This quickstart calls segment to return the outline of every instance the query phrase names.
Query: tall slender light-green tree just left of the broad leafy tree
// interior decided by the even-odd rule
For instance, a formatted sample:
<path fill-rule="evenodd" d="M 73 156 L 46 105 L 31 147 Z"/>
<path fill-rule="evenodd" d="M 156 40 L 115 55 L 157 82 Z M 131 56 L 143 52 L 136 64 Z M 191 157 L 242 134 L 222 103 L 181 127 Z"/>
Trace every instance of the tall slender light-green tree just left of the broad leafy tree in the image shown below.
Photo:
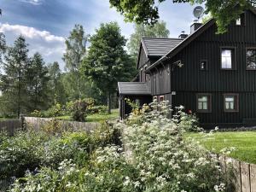
<path fill-rule="evenodd" d="M 86 42 L 88 35 L 85 35 L 83 26 L 75 25 L 70 36 L 66 40 L 66 53 L 63 60 L 66 62 L 67 71 L 71 75 L 69 84 L 72 84 L 72 90 L 81 97 L 81 74 L 79 68 L 82 59 L 86 53 Z"/>

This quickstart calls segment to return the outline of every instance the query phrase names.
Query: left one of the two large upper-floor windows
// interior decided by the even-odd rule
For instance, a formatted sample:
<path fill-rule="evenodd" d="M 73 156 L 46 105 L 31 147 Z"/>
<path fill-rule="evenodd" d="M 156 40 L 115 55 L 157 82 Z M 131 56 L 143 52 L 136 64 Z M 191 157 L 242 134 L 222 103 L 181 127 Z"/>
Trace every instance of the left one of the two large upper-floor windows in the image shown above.
<path fill-rule="evenodd" d="M 221 49 L 221 68 L 234 69 L 235 49 Z"/>

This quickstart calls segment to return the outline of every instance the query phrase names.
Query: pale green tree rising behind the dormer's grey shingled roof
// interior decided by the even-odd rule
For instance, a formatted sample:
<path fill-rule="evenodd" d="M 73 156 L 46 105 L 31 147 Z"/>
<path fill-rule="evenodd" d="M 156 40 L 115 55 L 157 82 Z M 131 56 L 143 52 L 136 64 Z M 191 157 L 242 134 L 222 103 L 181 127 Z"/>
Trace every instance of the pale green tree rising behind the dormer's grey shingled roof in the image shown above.
<path fill-rule="evenodd" d="M 154 26 L 147 26 L 144 24 L 136 24 L 135 32 L 131 34 L 131 38 L 128 43 L 128 50 L 131 56 L 137 60 L 138 49 L 141 39 L 146 38 L 168 38 L 169 30 L 166 29 L 166 22 L 157 22 Z"/>

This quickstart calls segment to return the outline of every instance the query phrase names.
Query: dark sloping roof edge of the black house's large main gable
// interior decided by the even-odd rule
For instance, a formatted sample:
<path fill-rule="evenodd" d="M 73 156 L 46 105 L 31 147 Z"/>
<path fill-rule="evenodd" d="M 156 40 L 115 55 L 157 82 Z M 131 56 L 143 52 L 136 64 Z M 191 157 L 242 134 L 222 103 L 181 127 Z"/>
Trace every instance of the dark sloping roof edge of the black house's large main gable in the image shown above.
<path fill-rule="evenodd" d="M 249 8 L 248 10 L 252 11 L 254 15 L 256 15 L 256 9 Z M 166 61 L 167 59 L 172 58 L 174 55 L 177 55 L 179 51 L 181 51 L 184 47 L 186 47 L 188 44 L 190 44 L 192 41 L 195 40 L 195 38 L 199 37 L 201 33 L 205 32 L 210 26 L 215 24 L 215 20 L 211 19 L 208 20 L 207 23 L 199 27 L 194 33 L 190 34 L 188 38 L 183 39 L 182 42 L 177 44 L 174 48 L 170 49 L 165 55 L 163 55 L 158 61 L 154 62 L 151 66 L 149 66 L 146 70 L 146 72 L 150 71 L 154 67 L 158 66 L 161 62 Z"/>

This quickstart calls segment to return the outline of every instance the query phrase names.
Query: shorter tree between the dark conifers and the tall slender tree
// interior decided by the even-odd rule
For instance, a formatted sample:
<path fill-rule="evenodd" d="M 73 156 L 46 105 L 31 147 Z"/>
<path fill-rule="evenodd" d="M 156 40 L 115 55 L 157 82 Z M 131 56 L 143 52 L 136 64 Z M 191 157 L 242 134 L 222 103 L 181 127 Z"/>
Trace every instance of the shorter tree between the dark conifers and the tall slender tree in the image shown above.
<path fill-rule="evenodd" d="M 60 65 L 57 61 L 49 64 L 49 90 L 51 95 L 51 105 L 54 101 L 57 103 L 65 104 L 67 102 L 67 93 L 62 83 L 62 73 Z"/>

